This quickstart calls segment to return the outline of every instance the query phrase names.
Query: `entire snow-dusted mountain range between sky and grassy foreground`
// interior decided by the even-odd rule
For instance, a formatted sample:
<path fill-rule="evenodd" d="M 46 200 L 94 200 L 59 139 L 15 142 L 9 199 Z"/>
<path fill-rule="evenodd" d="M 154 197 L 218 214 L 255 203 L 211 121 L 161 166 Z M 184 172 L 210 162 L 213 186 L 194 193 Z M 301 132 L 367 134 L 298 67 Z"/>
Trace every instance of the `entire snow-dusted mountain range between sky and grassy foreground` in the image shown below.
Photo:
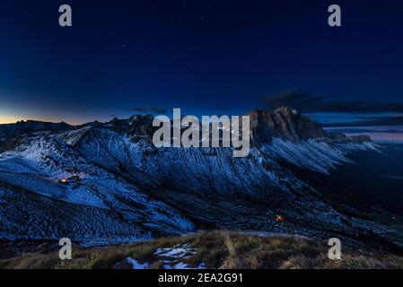
<path fill-rule="evenodd" d="M 152 123 L 0 125 L 0 240 L 93 246 L 219 228 L 392 244 L 395 230 L 345 213 L 291 168 L 329 174 L 381 152 L 369 137 L 327 133 L 294 109 L 253 110 L 250 155 L 234 159 L 227 148 L 157 149 Z"/>

